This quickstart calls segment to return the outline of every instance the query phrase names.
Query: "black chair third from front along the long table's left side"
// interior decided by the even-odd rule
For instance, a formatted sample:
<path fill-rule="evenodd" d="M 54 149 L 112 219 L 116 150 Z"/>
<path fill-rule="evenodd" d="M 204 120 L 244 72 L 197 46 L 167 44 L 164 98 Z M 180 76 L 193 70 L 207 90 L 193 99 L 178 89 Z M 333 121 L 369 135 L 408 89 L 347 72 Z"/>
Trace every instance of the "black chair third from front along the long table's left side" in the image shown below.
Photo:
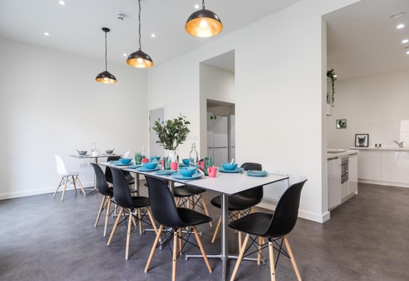
<path fill-rule="evenodd" d="M 106 209 L 105 215 L 105 227 L 104 227 L 104 236 L 106 236 L 106 230 L 108 227 L 109 215 L 111 210 L 111 202 L 115 205 L 115 201 L 112 200 L 113 198 L 113 190 L 108 186 L 108 183 L 105 180 L 104 172 L 102 171 L 101 167 L 98 164 L 90 163 L 95 171 L 95 178 L 96 178 L 96 186 L 99 191 L 104 197 L 102 198 L 101 207 L 99 208 L 99 212 L 97 215 L 97 221 L 95 222 L 95 227 L 98 226 L 99 220 L 101 218 L 102 211 Z M 110 170 L 109 167 L 106 167 L 107 170 Z"/>

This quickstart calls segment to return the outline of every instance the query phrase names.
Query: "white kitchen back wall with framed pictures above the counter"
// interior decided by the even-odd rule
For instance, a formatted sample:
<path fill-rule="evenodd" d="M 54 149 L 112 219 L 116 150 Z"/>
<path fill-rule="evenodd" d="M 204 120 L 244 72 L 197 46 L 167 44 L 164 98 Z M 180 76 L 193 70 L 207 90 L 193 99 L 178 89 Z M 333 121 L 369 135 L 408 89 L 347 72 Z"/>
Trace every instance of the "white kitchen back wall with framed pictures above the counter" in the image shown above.
<path fill-rule="evenodd" d="M 355 134 L 369 134 L 372 147 L 396 146 L 397 132 L 390 131 L 390 124 L 409 119 L 408 77 L 409 71 L 400 71 L 336 82 L 332 116 L 327 117 L 328 147 L 354 146 Z M 347 119 L 347 129 L 336 129 L 336 119 Z"/>

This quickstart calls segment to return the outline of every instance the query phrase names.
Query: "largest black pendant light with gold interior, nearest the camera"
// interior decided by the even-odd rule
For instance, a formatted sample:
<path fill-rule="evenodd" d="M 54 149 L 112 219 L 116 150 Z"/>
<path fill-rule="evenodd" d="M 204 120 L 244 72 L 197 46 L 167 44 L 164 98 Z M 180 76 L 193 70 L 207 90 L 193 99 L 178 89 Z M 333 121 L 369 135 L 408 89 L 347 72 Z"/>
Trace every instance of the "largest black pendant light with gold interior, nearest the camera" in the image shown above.
<path fill-rule="evenodd" d="M 185 30 L 196 37 L 211 37 L 219 34 L 222 29 L 220 18 L 205 9 L 205 0 L 203 0 L 203 9 L 191 14 L 185 24 Z"/>

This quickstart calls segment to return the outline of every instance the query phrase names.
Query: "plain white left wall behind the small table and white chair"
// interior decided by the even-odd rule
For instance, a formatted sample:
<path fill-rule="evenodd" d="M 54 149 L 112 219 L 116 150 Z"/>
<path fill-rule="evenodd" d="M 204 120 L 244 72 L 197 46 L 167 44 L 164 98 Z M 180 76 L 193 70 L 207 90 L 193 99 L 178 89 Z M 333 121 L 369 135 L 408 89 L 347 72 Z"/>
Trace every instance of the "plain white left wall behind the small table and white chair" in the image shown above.
<path fill-rule="evenodd" d="M 146 71 L 108 62 L 118 83 L 102 84 L 95 76 L 103 58 L 3 38 L 0 49 L 0 199 L 54 192 L 54 154 L 68 170 L 85 172 L 80 179 L 90 186 L 92 167 L 78 167 L 88 161 L 69 157 L 76 149 L 90 151 L 97 142 L 123 154 L 147 146 Z"/>

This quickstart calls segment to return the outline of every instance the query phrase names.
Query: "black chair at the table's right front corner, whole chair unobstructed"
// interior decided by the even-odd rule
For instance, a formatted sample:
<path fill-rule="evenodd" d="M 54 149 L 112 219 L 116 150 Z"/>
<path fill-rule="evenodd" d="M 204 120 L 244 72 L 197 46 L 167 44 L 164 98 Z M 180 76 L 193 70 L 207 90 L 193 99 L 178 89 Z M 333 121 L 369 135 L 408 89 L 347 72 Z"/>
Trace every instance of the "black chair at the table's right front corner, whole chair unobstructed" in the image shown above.
<path fill-rule="evenodd" d="M 306 181 L 307 180 L 304 180 L 289 186 L 280 197 L 276 210 L 273 214 L 253 213 L 229 223 L 229 226 L 236 231 L 246 233 L 246 237 L 244 238 L 243 245 L 241 246 L 239 257 L 237 258 L 236 266 L 234 267 L 230 281 L 234 280 L 234 277 L 239 269 L 240 262 L 252 244 L 258 245 L 258 260 L 260 260 L 261 250 L 268 247 L 271 280 L 276 280 L 275 268 L 278 258 L 282 253 L 291 260 L 297 278 L 299 281 L 301 281 L 300 272 L 291 251 L 290 244 L 288 243 L 287 234 L 289 234 L 296 225 L 298 210 L 300 207 L 301 190 Z M 251 238 L 252 235 L 256 237 Z M 247 242 L 250 238 L 252 240 L 252 244 L 246 248 Z M 257 238 L 259 238 L 258 242 Z M 264 243 L 263 238 L 267 238 L 268 242 Z M 282 248 L 283 241 L 287 251 Z M 276 263 L 274 263 L 273 248 L 278 250 Z"/>

